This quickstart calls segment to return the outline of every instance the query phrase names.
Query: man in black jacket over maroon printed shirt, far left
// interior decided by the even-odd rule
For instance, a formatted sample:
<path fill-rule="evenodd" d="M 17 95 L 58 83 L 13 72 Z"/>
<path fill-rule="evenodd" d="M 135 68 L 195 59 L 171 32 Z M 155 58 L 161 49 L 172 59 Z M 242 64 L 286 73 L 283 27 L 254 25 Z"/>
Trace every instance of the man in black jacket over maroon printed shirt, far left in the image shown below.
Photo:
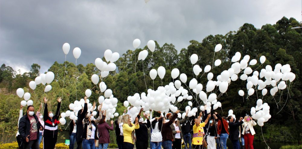
<path fill-rule="evenodd" d="M 34 106 L 27 107 L 26 114 L 19 121 L 19 133 L 24 149 L 39 149 L 39 130 L 43 130 L 38 117 L 34 114 Z"/>

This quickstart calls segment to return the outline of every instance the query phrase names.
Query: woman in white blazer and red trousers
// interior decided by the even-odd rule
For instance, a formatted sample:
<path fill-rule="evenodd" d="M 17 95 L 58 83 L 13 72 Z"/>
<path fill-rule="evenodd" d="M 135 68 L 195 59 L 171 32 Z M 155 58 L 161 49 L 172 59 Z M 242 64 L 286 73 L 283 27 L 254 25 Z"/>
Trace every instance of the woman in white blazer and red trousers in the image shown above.
<path fill-rule="evenodd" d="M 242 125 L 244 128 L 242 134 L 244 135 L 245 148 L 254 149 L 253 141 L 255 130 L 253 126 L 257 125 L 257 123 L 252 119 L 252 117 L 249 116 L 249 118 L 247 118 Z"/>

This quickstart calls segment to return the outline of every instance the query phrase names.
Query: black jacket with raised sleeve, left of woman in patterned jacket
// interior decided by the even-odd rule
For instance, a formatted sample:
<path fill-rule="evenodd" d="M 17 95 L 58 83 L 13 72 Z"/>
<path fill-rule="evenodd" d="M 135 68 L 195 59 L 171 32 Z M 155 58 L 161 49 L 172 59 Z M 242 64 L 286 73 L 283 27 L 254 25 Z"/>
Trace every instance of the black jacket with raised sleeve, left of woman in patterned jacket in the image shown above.
<path fill-rule="evenodd" d="M 76 141 L 77 142 L 82 141 L 82 135 L 84 132 L 82 121 L 85 118 L 85 114 L 87 113 L 87 110 L 88 110 L 87 103 L 85 103 L 83 112 L 82 112 L 82 110 L 79 110 L 79 112 L 78 112 L 78 121 L 76 122 Z M 82 114 L 81 114 L 81 112 L 82 112 Z"/>

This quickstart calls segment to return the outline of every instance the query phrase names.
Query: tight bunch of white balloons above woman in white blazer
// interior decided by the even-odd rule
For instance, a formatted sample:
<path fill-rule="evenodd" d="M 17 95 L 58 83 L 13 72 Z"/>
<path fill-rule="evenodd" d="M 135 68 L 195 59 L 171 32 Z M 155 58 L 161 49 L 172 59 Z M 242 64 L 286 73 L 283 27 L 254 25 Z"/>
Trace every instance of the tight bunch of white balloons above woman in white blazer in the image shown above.
<path fill-rule="evenodd" d="M 262 104 L 262 102 L 262 99 L 258 99 L 256 107 L 251 108 L 252 118 L 257 120 L 259 126 L 263 126 L 264 122 L 267 122 L 271 118 L 269 114 L 270 107 L 267 103 Z"/>

